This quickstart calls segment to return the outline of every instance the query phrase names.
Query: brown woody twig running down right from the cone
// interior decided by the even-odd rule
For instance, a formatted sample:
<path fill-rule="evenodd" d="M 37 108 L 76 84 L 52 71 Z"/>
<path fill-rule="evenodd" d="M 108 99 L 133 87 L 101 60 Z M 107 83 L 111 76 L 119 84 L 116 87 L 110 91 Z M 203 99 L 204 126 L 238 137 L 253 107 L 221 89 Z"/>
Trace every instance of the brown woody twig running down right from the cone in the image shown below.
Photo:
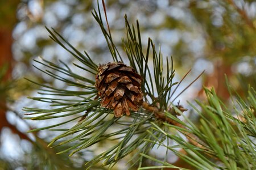
<path fill-rule="evenodd" d="M 147 111 L 150 111 L 155 114 L 156 118 L 159 118 L 160 120 L 164 122 L 168 122 L 169 124 L 178 126 L 179 128 L 187 129 L 184 125 L 180 124 L 179 122 L 176 122 L 175 120 L 166 117 L 166 115 L 163 112 L 160 112 L 158 108 L 150 106 L 147 102 L 143 101 L 142 107 L 146 109 Z M 203 143 L 200 141 L 199 138 L 195 134 L 188 133 L 187 131 L 183 131 L 183 134 L 185 134 L 185 137 L 188 139 L 189 142 L 192 143 L 192 145 L 195 145 L 199 148 L 206 149 L 205 146 L 201 145 Z"/>

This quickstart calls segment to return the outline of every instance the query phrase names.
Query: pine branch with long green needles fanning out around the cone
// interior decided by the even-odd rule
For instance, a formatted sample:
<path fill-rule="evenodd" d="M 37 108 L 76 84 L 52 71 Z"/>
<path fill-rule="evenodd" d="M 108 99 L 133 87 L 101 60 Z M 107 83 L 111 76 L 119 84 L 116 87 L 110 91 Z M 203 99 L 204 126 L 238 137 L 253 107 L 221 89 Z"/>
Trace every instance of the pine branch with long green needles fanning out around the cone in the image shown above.
<path fill-rule="evenodd" d="M 104 12 L 107 20 L 105 6 Z M 129 163 L 133 162 L 131 166 L 138 164 L 138 167 L 141 168 L 143 166 L 142 155 L 148 154 L 156 145 L 157 141 L 164 141 L 166 139 L 166 134 L 163 134 L 158 128 L 164 130 L 164 133 L 169 133 L 170 126 L 181 130 L 187 135 L 191 143 L 196 146 L 202 146 L 201 150 L 203 150 L 201 141 L 197 140 L 193 133 L 188 133 L 187 126 L 176 117 L 176 115 L 182 114 L 185 109 L 180 105 L 178 105 L 180 111 L 171 107 L 172 102 L 195 81 L 175 96 L 176 89 L 188 74 L 184 76 L 180 83 L 174 82 L 175 70 L 172 58 L 171 63 L 169 63 L 168 57 L 166 58 L 167 70 L 164 70 L 162 53 L 160 49 L 159 52 L 156 52 L 155 45 L 150 38 L 148 39 L 145 54 L 144 47 L 142 46 L 139 22 L 137 21 L 136 27 L 130 25 L 127 16 L 125 16 L 127 39 L 123 39 L 123 46 L 131 67 L 126 66 L 125 63 L 118 62 L 119 59 L 122 61 L 122 57 L 114 45 L 108 22 L 108 31 L 105 29 L 99 5 L 98 11 L 94 10 L 92 15 L 101 27 L 110 54 L 112 54 L 113 64 L 111 64 L 112 62 L 108 65 L 94 63 L 88 53 L 85 52 L 85 55 L 82 54 L 54 29 L 51 31 L 46 28 L 51 35 L 51 39 L 60 44 L 82 64 L 78 65 L 74 63 L 74 65 L 96 77 L 96 80 L 91 80 L 77 73 L 73 73 L 72 69 L 61 61 L 58 64 L 46 61 L 43 58 L 41 58 L 41 61 L 35 61 L 46 68 L 46 70 L 43 70 L 35 66 L 37 69 L 54 79 L 64 82 L 68 87 L 75 87 L 75 90 L 60 89 L 30 80 L 30 82 L 42 87 L 38 94 L 51 95 L 52 97 L 30 97 L 32 100 L 51 105 L 49 108 L 25 107 L 23 110 L 27 112 L 27 116 L 30 116 L 26 117 L 26 119 L 43 121 L 53 118 L 64 119 L 59 124 L 48 125 L 43 128 L 30 130 L 29 132 L 46 129 L 60 131 L 60 134 L 52 139 L 48 147 L 68 146 L 65 150 L 61 150 L 57 154 L 69 153 L 69 156 L 82 150 L 86 151 L 93 145 L 99 145 L 102 141 L 117 141 L 114 146 L 106 147 L 101 154 L 95 155 L 92 160 L 87 162 L 87 168 L 91 168 L 99 162 L 109 165 L 109 168 L 112 168 L 118 160 L 129 155 L 131 152 L 135 152 L 135 154 L 129 160 Z M 149 59 L 150 56 L 152 56 L 153 69 L 149 66 L 151 62 Z M 129 99 L 127 98 L 130 103 L 134 102 L 131 98 L 135 94 L 135 91 L 138 91 L 139 94 L 143 93 L 143 99 L 140 99 L 144 101 L 142 107 L 137 108 L 139 107 L 139 102 L 138 105 L 132 103 L 129 107 L 133 106 L 133 111 L 127 112 L 126 110 L 126 114 L 129 113 L 130 117 L 115 117 L 115 111 L 111 107 L 106 107 L 109 103 L 102 106 L 102 103 L 105 103 L 105 101 L 97 97 L 104 96 L 100 91 L 102 84 L 104 84 L 101 82 L 106 81 L 108 75 L 104 75 L 103 73 L 110 67 L 113 70 L 114 68 L 122 67 L 123 74 L 126 71 L 127 75 L 130 74 L 130 78 L 134 77 L 132 79 L 135 81 L 134 85 L 137 88 L 134 87 L 134 91 L 130 92 L 131 97 Z M 164 71 L 166 71 L 166 74 L 164 74 Z M 117 74 L 117 71 L 114 74 Z M 126 80 L 129 80 L 129 78 L 126 78 Z M 94 84 L 96 85 L 94 86 Z M 141 84 L 141 87 L 138 84 Z M 108 84 L 108 86 L 110 85 Z M 175 90 L 171 91 L 174 87 Z M 105 91 L 106 87 L 102 92 Z M 125 91 L 127 92 L 127 90 Z M 73 98 L 71 99 L 71 97 Z M 110 102 L 109 99 L 107 101 Z M 172 111 L 174 115 L 166 114 L 164 111 Z M 115 116 L 113 116 L 114 114 Z M 117 115 L 121 116 L 121 114 Z M 63 125 L 69 125 L 71 122 L 76 122 L 76 124 L 69 126 L 69 128 L 61 127 Z"/>

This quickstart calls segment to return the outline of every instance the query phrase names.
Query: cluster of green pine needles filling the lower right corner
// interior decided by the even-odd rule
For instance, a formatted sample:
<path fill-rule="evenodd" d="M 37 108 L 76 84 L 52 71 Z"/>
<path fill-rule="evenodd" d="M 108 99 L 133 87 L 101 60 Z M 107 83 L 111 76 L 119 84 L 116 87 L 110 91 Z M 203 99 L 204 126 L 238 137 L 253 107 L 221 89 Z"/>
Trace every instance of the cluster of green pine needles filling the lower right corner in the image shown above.
<path fill-rule="evenodd" d="M 158 140 L 157 144 L 173 151 L 175 155 L 197 169 L 255 169 L 255 135 L 252 132 L 255 131 L 256 125 L 254 116 L 256 92 L 251 88 L 248 92 L 247 100 L 244 100 L 233 91 L 229 84 L 228 86 L 229 91 L 233 92 L 238 99 L 233 100 L 233 111 L 221 102 L 213 89 L 205 89 L 205 93 L 208 96 L 208 105 L 197 101 L 197 104 L 202 109 L 201 111 L 191 104 L 200 115 L 201 127 L 200 129 L 197 128 L 195 124 L 186 119 L 187 124 L 189 124 L 189 126 L 186 126 L 187 132 L 195 134 L 200 141 L 206 144 L 204 145 L 206 148 L 191 145 L 181 136 L 166 133 L 158 125 L 154 125 L 161 133 L 167 135 L 168 139 L 174 140 L 179 148 L 183 148 L 187 154 L 177 151 L 174 146 L 165 145 L 160 140 Z M 204 112 L 209 117 L 206 117 Z M 172 116 L 168 112 L 166 114 Z M 180 120 L 176 121 L 180 124 L 184 123 Z M 170 124 L 166 125 L 175 128 Z M 212 162 L 208 156 L 216 159 L 218 164 Z M 159 162 L 159 160 L 150 156 L 147 156 L 147 158 Z M 161 163 L 163 165 L 166 164 L 166 162 Z M 169 165 L 168 168 L 172 168 L 172 165 Z"/>

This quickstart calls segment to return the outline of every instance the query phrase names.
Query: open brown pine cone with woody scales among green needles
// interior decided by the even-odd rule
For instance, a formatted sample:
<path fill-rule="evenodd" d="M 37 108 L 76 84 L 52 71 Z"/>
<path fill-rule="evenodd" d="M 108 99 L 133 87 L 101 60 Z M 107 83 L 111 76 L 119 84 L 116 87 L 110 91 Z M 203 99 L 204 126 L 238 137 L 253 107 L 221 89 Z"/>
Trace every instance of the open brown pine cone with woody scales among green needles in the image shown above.
<path fill-rule="evenodd" d="M 143 99 L 141 75 L 122 62 L 113 62 L 98 67 L 96 89 L 101 97 L 101 106 L 114 109 L 115 117 L 121 117 L 129 109 L 138 111 L 138 104 Z"/>

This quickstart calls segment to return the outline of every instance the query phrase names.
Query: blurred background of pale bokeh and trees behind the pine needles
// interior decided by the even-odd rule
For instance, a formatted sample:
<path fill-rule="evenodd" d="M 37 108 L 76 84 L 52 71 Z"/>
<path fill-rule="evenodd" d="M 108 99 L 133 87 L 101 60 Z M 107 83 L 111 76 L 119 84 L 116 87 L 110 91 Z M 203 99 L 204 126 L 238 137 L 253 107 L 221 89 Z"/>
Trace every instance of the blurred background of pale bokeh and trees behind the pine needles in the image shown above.
<path fill-rule="evenodd" d="M 192 69 L 183 86 L 205 70 L 180 97 L 181 104 L 204 100 L 203 85 L 214 87 L 228 103 L 224 74 L 241 95 L 245 95 L 248 84 L 256 87 L 255 1 L 109 0 L 106 6 L 114 42 L 124 56 L 121 38 L 126 37 L 123 16 L 127 14 L 130 23 L 139 20 L 143 45 L 151 37 L 163 56 L 174 58 L 176 80 Z M 22 108 L 42 106 L 27 99 L 37 96 L 39 87 L 24 77 L 59 88 L 67 86 L 36 70 L 33 59 L 42 56 L 56 63 L 61 60 L 76 70 L 74 58 L 49 39 L 45 26 L 55 28 L 77 49 L 86 50 L 96 63 L 112 60 L 91 14 L 93 8 L 97 8 L 96 0 L 0 1 L 0 169 L 82 169 L 85 161 L 92 159 L 86 152 L 71 158 L 55 155 L 56 150 L 47 148 L 55 132 L 26 133 L 50 122 L 23 120 Z M 168 162 L 180 165 L 173 155 Z M 122 166 L 125 159 L 116 168 Z"/>

